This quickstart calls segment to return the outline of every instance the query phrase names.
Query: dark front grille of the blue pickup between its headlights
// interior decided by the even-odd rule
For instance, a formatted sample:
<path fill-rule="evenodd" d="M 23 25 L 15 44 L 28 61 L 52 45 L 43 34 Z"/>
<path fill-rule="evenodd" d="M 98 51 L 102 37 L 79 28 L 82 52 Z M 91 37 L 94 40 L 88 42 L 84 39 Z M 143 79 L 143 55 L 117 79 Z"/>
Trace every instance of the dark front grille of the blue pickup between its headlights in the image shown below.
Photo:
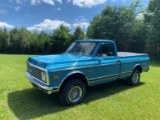
<path fill-rule="evenodd" d="M 42 78 L 41 78 L 41 72 L 42 70 L 38 69 L 38 68 L 35 68 L 33 66 L 31 66 L 29 63 L 27 63 L 27 72 L 29 72 L 29 74 L 33 77 L 35 77 L 36 79 L 42 81 Z M 44 81 L 42 81 L 44 82 Z"/>

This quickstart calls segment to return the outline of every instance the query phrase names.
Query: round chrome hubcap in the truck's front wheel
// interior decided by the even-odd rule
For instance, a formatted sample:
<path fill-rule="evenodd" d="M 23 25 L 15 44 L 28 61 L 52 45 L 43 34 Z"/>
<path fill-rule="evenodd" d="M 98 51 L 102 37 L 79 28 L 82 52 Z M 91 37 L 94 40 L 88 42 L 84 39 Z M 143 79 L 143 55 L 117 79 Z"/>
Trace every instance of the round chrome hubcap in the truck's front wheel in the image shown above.
<path fill-rule="evenodd" d="M 74 86 L 68 94 L 71 102 L 77 102 L 82 97 L 82 89 L 79 86 Z"/>

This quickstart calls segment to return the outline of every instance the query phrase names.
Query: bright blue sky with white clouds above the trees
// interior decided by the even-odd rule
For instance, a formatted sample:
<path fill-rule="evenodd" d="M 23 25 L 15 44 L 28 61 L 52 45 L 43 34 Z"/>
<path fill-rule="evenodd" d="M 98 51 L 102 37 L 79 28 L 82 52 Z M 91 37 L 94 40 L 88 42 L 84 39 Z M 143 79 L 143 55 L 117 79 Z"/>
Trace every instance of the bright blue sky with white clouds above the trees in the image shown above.
<path fill-rule="evenodd" d="M 26 27 L 52 31 L 61 24 L 86 30 L 107 5 L 127 5 L 132 0 L 0 0 L 0 28 Z M 148 5 L 149 0 L 142 0 Z"/>

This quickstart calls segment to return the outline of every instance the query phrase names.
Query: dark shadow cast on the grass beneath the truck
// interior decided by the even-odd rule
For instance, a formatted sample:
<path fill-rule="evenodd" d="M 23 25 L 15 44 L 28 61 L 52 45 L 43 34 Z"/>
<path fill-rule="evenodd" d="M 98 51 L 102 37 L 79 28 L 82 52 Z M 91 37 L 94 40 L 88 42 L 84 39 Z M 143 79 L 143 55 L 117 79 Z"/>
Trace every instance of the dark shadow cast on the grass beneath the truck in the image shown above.
<path fill-rule="evenodd" d="M 143 84 L 144 83 L 140 83 L 136 87 Z M 82 104 L 88 104 L 91 101 L 106 98 L 131 88 L 135 87 L 126 86 L 122 81 L 90 87 Z M 57 112 L 76 107 L 62 106 L 58 102 L 57 94 L 46 95 L 35 88 L 9 93 L 8 105 L 18 119 L 34 119 L 43 115 L 56 114 Z"/>

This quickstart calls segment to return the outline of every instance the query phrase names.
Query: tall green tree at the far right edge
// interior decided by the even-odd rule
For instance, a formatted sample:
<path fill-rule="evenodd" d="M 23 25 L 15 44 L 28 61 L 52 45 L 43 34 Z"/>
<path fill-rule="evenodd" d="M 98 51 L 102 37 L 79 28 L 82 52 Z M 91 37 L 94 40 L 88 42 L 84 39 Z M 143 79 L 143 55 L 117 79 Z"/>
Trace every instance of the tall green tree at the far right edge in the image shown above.
<path fill-rule="evenodd" d="M 160 2 L 151 0 L 145 14 L 147 29 L 147 52 L 157 58 L 160 52 Z M 160 59 L 160 58 L 159 58 Z"/>

